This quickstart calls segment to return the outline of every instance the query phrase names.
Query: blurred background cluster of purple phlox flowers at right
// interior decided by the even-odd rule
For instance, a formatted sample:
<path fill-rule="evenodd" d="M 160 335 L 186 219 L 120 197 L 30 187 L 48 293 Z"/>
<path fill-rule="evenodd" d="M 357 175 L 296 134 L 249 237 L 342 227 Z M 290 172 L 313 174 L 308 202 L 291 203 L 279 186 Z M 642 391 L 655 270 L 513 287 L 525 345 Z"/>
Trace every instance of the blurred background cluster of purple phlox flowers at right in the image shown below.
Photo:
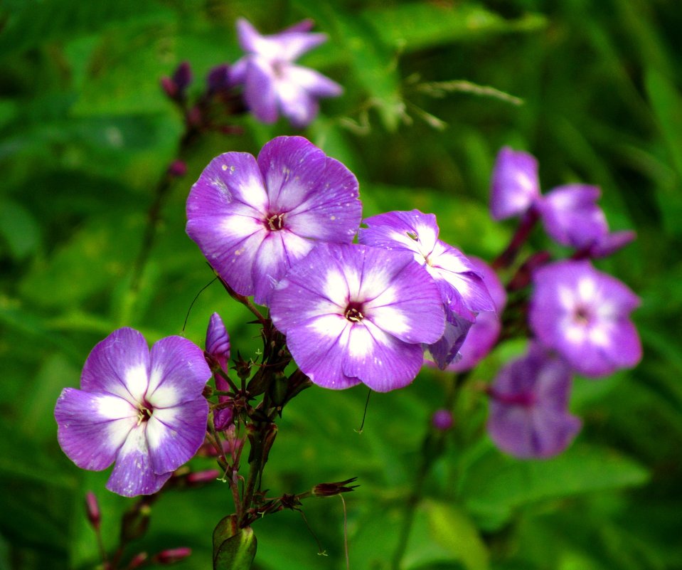
<path fill-rule="evenodd" d="M 599 195 L 595 186 L 568 184 L 543 196 L 538 162 L 531 154 L 503 148 L 497 157 L 491 182 L 493 218 L 523 216 L 520 241 L 540 218 L 551 238 L 575 250 L 570 259 L 543 263 L 546 256 L 541 255 L 519 269 L 531 271 L 532 342 L 526 356 L 505 366 L 489 389 L 489 433 L 512 455 L 548 457 L 570 443 L 580 427 L 567 411 L 572 373 L 600 378 L 641 359 L 639 335 L 629 318 L 639 298 L 590 261 L 634 238 L 632 232 L 609 233 L 596 204 Z M 512 257 L 520 245 L 514 244 Z M 503 264 L 511 265 L 512 257 L 502 256 Z M 526 280 L 517 281 L 523 285 Z"/>

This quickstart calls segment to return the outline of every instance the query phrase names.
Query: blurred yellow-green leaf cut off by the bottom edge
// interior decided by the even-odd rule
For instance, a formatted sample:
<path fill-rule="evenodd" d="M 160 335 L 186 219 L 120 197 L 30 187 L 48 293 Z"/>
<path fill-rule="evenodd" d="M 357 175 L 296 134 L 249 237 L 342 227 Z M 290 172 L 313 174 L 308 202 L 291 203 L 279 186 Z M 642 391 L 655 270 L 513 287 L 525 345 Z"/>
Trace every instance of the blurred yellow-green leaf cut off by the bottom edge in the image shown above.
<path fill-rule="evenodd" d="M 403 557 L 406 570 L 459 562 L 467 570 L 486 570 L 488 550 L 469 516 L 454 505 L 425 501 L 417 507 Z"/>

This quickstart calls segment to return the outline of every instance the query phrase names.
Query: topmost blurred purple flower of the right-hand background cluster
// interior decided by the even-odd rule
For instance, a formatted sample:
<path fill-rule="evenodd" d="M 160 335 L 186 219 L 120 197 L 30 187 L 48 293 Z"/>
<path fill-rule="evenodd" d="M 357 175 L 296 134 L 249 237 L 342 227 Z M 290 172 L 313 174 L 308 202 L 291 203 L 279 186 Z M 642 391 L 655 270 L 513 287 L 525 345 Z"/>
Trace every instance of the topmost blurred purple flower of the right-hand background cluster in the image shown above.
<path fill-rule="evenodd" d="M 490 189 L 494 220 L 521 216 L 540 198 L 538 161 L 528 152 L 503 147 L 497 154 Z"/>

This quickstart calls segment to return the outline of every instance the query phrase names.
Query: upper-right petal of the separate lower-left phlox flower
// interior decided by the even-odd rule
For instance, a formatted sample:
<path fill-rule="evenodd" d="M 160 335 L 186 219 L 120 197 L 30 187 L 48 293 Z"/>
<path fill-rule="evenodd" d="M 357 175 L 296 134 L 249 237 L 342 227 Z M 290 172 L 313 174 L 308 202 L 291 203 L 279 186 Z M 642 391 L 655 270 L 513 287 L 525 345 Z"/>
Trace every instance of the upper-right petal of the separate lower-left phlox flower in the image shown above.
<path fill-rule="evenodd" d="M 146 400 L 156 408 L 172 408 L 201 398 L 211 378 L 203 351 L 182 337 L 166 337 L 151 347 L 151 374 Z"/>

